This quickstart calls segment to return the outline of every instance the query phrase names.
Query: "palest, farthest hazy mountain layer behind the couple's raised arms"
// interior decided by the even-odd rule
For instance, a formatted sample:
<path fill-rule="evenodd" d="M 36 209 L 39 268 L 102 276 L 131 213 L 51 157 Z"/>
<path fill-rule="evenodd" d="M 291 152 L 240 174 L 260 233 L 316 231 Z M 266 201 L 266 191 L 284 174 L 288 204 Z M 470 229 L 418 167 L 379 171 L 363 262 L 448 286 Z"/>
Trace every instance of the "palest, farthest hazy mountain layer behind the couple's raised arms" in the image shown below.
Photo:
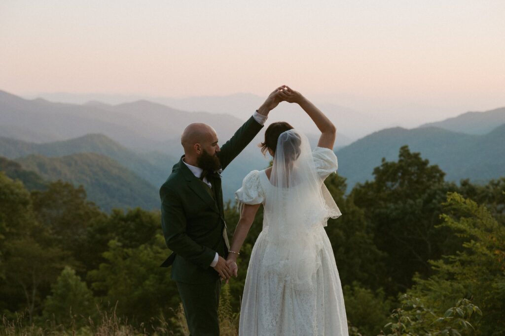
<path fill-rule="evenodd" d="M 265 101 L 265 98 L 270 92 L 267 90 L 265 96 L 258 96 L 250 93 L 236 93 L 225 96 L 192 96 L 187 98 L 170 98 L 170 97 L 140 97 L 138 95 L 100 95 L 100 94 L 69 94 L 69 93 L 56 93 L 56 94 L 42 94 L 43 97 L 54 101 L 67 101 L 74 104 L 98 107 L 102 109 L 117 110 L 117 107 L 122 105 L 142 105 L 150 104 L 154 110 L 156 105 L 163 104 L 165 108 L 170 106 L 173 111 L 190 111 L 194 114 L 195 119 L 191 122 L 206 122 L 216 128 L 220 137 L 227 138 L 231 133 L 227 133 L 226 129 L 223 132 L 221 123 L 229 122 L 228 117 L 233 116 L 238 120 L 245 120 L 260 107 Z M 147 99 L 147 100 L 145 100 Z M 133 103 L 121 104 L 120 102 L 133 101 Z M 119 103 L 119 104 L 118 104 Z M 111 105 L 113 104 L 113 105 Z M 116 105 L 118 104 L 118 105 Z M 367 135 L 371 131 L 380 129 L 389 123 L 382 118 L 376 118 L 370 115 L 365 115 L 356 110 L 328 103 L 316 104 L 328 115 L 328 117 L 337 125 L 339 137 L 337 138 L 337 147 L 342 147 L 350 144 L 362 136 Z M 162 106 L 163 106 L 162 105 Z M 175 110 L 174 110 L 175 109 Z M 135 109 L 137 113 L 139 110 Z M 205 111 L 205 112 L 202 112 Z M 206 112 L 210 114 L 220 115 L 219 119 L 208 119 Z M 150 113 L 150 112 L 149 112 Z M 184 112 L 188 113 L 188 112 Z M 221 117 L 224 115 L 224 118 Z M 153 120 L 158 116 L 145 114 L 144 117 L 149 117 Z M 177 118 L 176 118 L 177 119 Z M 270 113 L 267 123 L 273 121 L 288 121 L 294 127 L 302 129 L 307 133 L 317 132 L 314 123 L 308 118 L 306 113 L 296 104 L 289 104 L 286 102 L 281 103 Z M 367 121 L 366 124 L 363 121 Z M 360 121 L 360 123 L 358 123 Z M 166 121 L 164 121 L 166 122 Z M 235 127 L 235 126 L 233 126 Z"/>

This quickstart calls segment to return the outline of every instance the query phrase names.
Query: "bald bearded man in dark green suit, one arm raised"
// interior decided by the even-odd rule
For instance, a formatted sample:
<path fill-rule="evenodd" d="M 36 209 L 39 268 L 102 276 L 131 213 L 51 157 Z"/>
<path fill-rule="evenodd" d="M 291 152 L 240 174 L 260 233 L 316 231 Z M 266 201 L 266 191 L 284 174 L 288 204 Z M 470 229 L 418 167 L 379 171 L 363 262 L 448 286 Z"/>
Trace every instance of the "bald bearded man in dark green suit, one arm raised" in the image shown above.
<path fill-rule="evenodd" d="M 251 142 L 268 113 L 281 101 L 274 90 L 221 148 L 214 128 L 188 125 L 181 136 L 184 155 L 160 188 L 162 229 L 192 336 L 219 335 L 221 281 L 231 276 L 220 172 Z"/>

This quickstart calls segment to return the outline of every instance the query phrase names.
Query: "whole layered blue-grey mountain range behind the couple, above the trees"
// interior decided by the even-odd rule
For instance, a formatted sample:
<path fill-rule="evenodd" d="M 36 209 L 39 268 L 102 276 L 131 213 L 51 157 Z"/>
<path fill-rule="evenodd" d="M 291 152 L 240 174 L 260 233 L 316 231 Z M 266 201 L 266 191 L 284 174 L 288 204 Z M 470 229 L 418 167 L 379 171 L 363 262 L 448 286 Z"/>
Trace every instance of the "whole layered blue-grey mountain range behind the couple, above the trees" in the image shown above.
<path fill-rule="evenodd" d="M 256 98 L 247 99 L 252 103 Z M 247 99 L 236 97 L 237 102 Z M 201 104 L 206 101 L 203 99 Z M 215 106 L 219 102 L 216 100 Z M 86 190 L 89 188 L 90 199 L 104 209 L 135 205 L 157 208 L 157 189 L 182 154 L 179 137 L 184 126 L 196 121 L 215 125 L 223 144 L 250 111 L 243 116 L 236 114 L 238 117 L 185 112 L 145 100 L 115 105 L 99 101 L 63 104 L 27 100 L 0 91 L 0 156 L 14 159 L 22 169 L 46 180 L 61 178 L 82 183 Z M 271 114 L 267 124 L 273 120 Z M 413 129 L 381 129 L 347 146 L 338 146 L 338 139 L 351 142 L 339 132 L 338 171 L 351 188 L 371 179 L 373 168 L 380 165 L 383 157 L 396 160 L 398 149 L 409 145 L 412 151 L 421 152 L 423 158 L 438 164 L 447 173 L 447 180 L 497 178 L 505 175 L 504 124 L 505 108 L 499 108 L 467 112 Z M 340 129 L 338 125 L 337 128 Z M 315 146 L 318 136 L 310 133 L 307 136 Z M 223 172 L 225 200 L 233 198 L 233 192 L 250 170 L 268 166 L 269 159 L 256 146 L 261 141 L 262 133 Z M 10 167 L 13 174 L 12 162 L 4 162 L 4 166 Z M 0 169 L 7 168 L 0 166 Z M 130 189 L 123 188 L 125 185 Z M 138 188 L 138 192 L 131 188 Z"/>

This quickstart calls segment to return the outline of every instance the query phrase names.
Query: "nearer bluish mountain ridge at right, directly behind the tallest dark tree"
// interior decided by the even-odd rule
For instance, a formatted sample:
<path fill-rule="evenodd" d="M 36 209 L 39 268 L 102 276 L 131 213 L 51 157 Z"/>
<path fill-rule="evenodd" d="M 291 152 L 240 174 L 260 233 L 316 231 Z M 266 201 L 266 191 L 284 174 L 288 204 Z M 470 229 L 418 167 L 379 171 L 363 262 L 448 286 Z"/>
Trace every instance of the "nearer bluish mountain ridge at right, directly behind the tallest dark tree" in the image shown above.
<path fill-rule="evenodd" d="M 476 182 L 505 176 L 505 124 L 483 136 L 452 132 L 438 127 L 388 128 L 360 139 L 336 152 L 338 173 L 351 188 L 372 179 L 373 169 L 384 157 L 396 161 L 401 146 L 420 152 L 446 173 L 446 180 L 470 178 Z"/>

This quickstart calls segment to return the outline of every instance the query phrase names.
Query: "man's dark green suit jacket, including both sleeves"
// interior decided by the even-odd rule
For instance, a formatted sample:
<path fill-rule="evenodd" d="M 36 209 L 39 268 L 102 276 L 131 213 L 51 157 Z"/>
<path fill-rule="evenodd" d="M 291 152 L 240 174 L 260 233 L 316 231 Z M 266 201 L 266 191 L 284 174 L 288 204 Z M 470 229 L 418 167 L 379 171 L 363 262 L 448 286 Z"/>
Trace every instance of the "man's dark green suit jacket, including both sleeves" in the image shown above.
<path fill-rule="evenodd" d="M 263 127 L 250 117 L 221 146 L 218 153 L 221 169 L 251 142 Z M 183 156 L 184 157 L 184 156 Z M 172 265 L 172 279 L 188 284 L 216 281 L 218 273 L 210 266 L 216 252 L 226 257 L 223 238 L 225 228 L 221 176 L 209 173 L 209 186 L 196 178 L 181 160 L 160 188 L 162 229 L 165 242 L 173 253 L 162 263 Z"/>

